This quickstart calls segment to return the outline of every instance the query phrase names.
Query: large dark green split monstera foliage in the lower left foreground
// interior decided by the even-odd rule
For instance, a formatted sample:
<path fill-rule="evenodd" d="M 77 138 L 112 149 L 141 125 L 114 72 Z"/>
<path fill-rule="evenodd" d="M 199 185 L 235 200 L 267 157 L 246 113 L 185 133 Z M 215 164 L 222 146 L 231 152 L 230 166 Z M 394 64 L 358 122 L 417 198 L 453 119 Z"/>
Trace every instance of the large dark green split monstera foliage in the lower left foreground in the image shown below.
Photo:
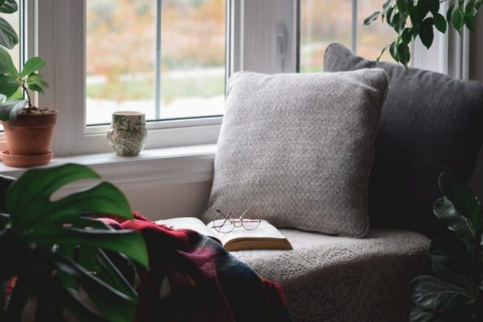
<path fill-rule="evenodd" d="M 138 296 L 106 251 L 148 267 L 146 245 L 139 233 L 115 231 L 89 216 L 132 219 L 126 197 L 110 183 L 52 199 L 59 188 L 83 179 L 99 175 L 67 164 L 29 170 L 8 189 L 8 214 L 0 221 L 0 261 L 7 263 L 0 267 L 0 286 L 13 276 L 17 282 L 0 320 L 21 320 L 29 299 L 36 301 L 38 321 L 65 320 L 66 314 L 80 321 L 134 319 Z"/>

